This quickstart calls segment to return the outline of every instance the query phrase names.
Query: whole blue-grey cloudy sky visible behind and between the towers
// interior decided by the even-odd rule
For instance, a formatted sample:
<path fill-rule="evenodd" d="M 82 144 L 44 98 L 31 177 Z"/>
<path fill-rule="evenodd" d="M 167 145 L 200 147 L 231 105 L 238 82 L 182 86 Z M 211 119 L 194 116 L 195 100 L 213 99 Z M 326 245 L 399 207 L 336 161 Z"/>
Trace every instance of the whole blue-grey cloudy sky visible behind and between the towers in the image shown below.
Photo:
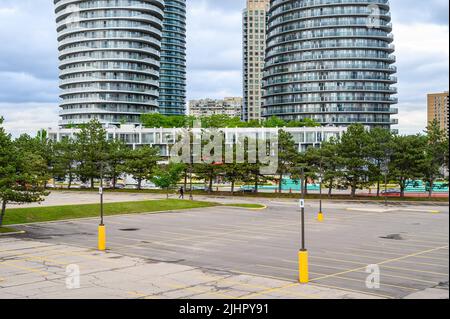
<path fill-rule="evenodd" d="M 187 0 L 188 99 L 242 95 L 245 0 Z M 426 126 L 426 94 L 448 90 L 448 0 L 391 0 L 401 133 Z M 58 121 L 53 0 L 0 0 L 0 116 L 14 135 Z"/>

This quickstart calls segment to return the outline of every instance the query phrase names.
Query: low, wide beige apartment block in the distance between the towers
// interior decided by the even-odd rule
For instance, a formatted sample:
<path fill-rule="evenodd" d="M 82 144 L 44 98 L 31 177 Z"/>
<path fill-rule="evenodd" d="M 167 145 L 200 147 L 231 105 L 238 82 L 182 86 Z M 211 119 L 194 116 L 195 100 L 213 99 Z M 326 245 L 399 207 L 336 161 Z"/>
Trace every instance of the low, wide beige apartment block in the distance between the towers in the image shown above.
<path fill-rule="evenodd" d="M 189 115 L 197 117 L 211 115 L 241 117 L 241 110 L 241 97 L 226 97 L 223 100 L 202 99 L 189 102 Z"/>

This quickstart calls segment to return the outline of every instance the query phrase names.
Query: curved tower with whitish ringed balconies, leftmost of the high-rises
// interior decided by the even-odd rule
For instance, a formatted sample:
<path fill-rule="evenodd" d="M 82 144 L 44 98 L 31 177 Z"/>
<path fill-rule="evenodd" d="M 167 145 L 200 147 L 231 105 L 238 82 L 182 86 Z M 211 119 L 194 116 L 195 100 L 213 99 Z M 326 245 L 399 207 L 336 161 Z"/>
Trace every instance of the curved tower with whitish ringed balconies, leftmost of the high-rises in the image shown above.
<path fill-rule="evenodd" d="M 158 111 L 163 0 L 54 0 L 60 125 L 139 123 Z"/>

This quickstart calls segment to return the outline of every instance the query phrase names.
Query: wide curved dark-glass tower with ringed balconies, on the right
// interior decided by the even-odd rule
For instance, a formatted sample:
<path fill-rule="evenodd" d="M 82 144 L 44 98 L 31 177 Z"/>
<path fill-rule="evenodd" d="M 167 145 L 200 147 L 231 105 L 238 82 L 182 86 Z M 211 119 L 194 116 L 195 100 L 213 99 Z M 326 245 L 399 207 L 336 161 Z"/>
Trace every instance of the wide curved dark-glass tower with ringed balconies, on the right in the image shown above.
<path fill-rule="evenodd" d="M 389 10 L 388 0 L 272 0 L 263 116 L 396 124 Z"/>

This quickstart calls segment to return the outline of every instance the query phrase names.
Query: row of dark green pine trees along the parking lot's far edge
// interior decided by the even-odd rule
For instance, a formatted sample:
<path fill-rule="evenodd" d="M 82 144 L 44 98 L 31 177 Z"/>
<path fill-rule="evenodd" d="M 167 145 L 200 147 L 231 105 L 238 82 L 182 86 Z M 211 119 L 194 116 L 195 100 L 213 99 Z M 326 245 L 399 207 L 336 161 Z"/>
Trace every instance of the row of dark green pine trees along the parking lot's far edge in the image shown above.
<path fill-rule="evenodd" d="M 36 137 L 22 135 L 14 140 L 2 122 L 0 119 L 0 225 L 8 203 L 42 201 L 48 195 L 46 186 L 52 178 L 65 181 L 68 188 L 75 180 L 94 188 L 103 177 L 116 188 L 126 174 L 137 181 L 138 189 L 144 181 L 151 181 L 169 190 L 179 183 L 186 188 L 193 175 L 208 185 L 209 192 L 218 180 L 230 183 L 232 192 L 238 183 L 253 185 L 257 191 L 260 185 L 275 181 L 281 192 L 283 177 L 295 180 L 303 171 L 306 182 L 321 179 L 330 196 L 338 187 L 349 188 L 355 196 L 358 189 L 374 184 L 379 196 L 383 181 L 388 179 L 400 186 L 403 197 L 408 181 L 414 179 L 427 183 L 432 196 L 434 183 L 443 177 L 442 169 L 448 170 L 448 137 L 436 122 L 429 125 L 425 134 L 409 136 L 352 125 L 339 140 L 326 141 L 321 148 L 309 148 L 304 153 L 299 153 L 293 137 L 280 129 L 275 176 L 262 175 L 259 162 L 167 164 L 157 147 L 131 149 L 120 140 L 108 140 L 105 129 L 96 120 L 80 126 L 73 139 L 58 142 L 51 141 L 45 131 Z"/>

